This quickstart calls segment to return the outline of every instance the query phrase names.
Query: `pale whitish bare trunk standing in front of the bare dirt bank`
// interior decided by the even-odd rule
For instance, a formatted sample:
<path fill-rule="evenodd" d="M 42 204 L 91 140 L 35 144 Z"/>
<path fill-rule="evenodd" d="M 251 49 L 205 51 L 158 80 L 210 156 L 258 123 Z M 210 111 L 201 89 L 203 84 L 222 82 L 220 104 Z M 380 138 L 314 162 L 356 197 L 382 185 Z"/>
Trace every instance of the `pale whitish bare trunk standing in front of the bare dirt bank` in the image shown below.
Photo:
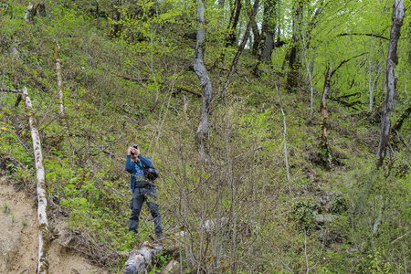
<path fill-rule="evenodd" d="M 33 152 L 36 161 L 37 174 L 37 218 L 38 218 L 38 261 L 37 274 L 48 273 L 48 222 L 47 222 L 47 194 L 45 170 L 43 167 L 43 153 L 41 151 L 40 135 L 37 131 L 37 121 L 35 119 L 35 111 L 28 97 L 26 87 L 21 92 L 26 105 L 26 114 L 28 116 L 28 124 L 31 131 L 31 139 L 33 141 Z"/>

